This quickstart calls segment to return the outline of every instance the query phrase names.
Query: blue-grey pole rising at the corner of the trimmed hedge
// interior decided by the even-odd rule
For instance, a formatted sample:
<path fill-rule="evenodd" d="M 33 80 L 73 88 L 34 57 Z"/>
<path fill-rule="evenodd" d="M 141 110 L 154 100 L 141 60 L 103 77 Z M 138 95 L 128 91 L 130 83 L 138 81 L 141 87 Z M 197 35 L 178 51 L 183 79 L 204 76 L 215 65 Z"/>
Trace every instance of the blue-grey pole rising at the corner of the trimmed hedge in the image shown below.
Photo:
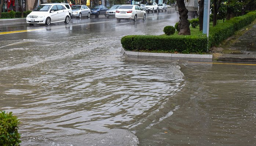
<path fill-rule="evenodd" d="M 210 17 L 210 0 L 204 0 L 204 23 L 203 34 L 209 37 L 209 18 Z"/>

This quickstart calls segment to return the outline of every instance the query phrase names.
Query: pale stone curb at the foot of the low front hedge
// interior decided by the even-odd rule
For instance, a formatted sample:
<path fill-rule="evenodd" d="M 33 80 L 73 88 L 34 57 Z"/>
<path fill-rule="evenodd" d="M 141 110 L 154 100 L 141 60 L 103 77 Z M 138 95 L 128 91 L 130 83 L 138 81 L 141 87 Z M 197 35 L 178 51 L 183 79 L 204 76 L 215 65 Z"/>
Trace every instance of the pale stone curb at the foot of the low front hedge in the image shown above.
<path fill-rule="evenodd" d="M 128 57 L 138 58 L 164 58 L 164 59 L 186 59 L 189 61 L 212 61 L 212 55 L 206 54 L 172 54 L 172 53 L 147 53 L 147 52 L 134 52 L 126 51 L 123 48 L 121 53 Z"/>

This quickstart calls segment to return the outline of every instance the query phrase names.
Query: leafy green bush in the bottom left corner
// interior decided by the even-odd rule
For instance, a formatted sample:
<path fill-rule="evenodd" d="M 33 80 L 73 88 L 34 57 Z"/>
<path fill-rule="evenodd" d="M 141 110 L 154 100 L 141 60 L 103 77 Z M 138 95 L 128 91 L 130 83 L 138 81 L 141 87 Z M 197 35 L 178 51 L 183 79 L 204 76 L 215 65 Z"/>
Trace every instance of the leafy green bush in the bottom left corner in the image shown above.
<path fill-rule="evenodd" d="M 0 111 L 0 145 L 19 146 L 21 137 L 18 133 L 19 120 L 12 112 Z"/>

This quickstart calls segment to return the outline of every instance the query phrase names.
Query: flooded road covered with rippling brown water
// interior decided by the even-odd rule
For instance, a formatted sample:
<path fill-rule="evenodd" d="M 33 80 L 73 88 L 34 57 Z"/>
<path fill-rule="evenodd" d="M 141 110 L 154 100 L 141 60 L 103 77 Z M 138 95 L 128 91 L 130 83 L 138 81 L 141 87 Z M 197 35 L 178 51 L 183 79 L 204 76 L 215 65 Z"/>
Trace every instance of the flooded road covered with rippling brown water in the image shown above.
<path fill-rule="evenodd" d="M 0 35 L 0 110 L 20 119 L 21 145 L 255 145 L 255 65 L 120 54 L 122 36 L 178 20 L 154 15 Z"/>

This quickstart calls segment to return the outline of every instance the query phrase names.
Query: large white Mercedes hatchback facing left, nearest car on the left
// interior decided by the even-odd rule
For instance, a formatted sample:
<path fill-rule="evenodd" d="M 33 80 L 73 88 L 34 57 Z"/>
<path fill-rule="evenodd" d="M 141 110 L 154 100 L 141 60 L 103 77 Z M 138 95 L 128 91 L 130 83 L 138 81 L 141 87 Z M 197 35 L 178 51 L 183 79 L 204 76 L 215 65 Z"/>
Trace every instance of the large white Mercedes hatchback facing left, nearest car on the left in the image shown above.
<path fill-rule="evenodd" d="M 29 25 L 47 24 L 56 22 L 69 23 L 69 10 L 63 4 L 41 4 L 37 6 L 29 15 L 26 22 Z"/>

